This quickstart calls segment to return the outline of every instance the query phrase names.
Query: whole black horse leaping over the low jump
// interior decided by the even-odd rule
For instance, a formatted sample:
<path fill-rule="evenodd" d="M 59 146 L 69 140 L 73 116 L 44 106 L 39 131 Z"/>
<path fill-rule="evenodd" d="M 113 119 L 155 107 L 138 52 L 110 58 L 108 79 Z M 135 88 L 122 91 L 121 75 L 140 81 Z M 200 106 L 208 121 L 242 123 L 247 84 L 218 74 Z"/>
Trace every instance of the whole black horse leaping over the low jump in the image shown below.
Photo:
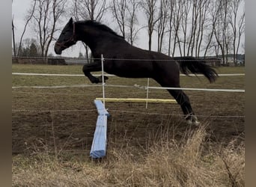
<path fill-rule="evenodd" d="M 180 71 L 186 75 L 189 72 L 202 73 L 210 82 L 214 82 L 218 76 L 204 61 L 192 57 L 171 58 L 160 52 L 139 49 L 131 46 L 111 28 L 91 20 L 73 22 L 70 18 L 55 43 L 55 53 L 61 55 L 64 49 L 76 44 L 78 40 L 89 46 L 95 59 L 93 63 L 85 64 L 82 69 L 92 83 L 101 82 L 100 77 L 91 75 L 91 72 L 101 70 L 101 54 L 106 59 L 106 73 L 127 78 L 152 78 L 162 87 L 180 88 Z M 180 104 L 187 122 L 198 124 L 189 97 L 181 90 L 168 92 Z"/>

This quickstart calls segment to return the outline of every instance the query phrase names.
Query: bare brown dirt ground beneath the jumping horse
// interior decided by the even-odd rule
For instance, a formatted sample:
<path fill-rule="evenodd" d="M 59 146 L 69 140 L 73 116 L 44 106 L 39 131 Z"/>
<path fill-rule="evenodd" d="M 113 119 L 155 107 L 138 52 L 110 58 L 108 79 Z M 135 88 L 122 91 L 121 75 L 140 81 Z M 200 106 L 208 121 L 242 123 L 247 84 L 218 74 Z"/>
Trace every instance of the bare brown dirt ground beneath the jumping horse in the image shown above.
<path fill-rule="evenodd" d="M 86 78 L 46 78 L 13 76 L 13 86 L 89 84 Z M 76 80 L 76 81 L 74 81 Z M 78 81 L 79 80 L 79 81 Z M 108 85 L 145 85 L 146 79 L 111 77 L 107 97 L 145 98 L 138 88 L 116 88 Z M 150 85 L 156 85 L 150 80 Z M 210 85 L 204 78 L 182 77 L 186 88 L 244 89 L 244 76 L 219 77 Z M 186 91 L 201 123 L 207 125 L 209 146 L 228 144 L 245 138 L 245 94 L 228 92 Z M 84 153 L 89 156 L 97 120 L 94 99 L 102 96 L 100 87 L 83 88 L 15 88 L 13 89 L 12 150 L 16 154 Z M 150 90 L 150 98 L 173 99 L 167 91 Z M 109 147 L 150 145 L 152 138 L 181 138 L 188 129 L 177 104 L 106 102 Z"/>

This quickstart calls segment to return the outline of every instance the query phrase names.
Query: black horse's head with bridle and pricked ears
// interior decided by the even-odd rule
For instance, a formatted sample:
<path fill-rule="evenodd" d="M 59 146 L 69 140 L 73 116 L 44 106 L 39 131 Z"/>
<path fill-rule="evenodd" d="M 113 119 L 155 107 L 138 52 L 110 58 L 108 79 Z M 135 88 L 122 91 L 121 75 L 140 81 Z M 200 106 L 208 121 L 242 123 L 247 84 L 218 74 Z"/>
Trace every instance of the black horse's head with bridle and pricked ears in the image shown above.
<path fill-rule="evenodd" d="M 67 22 L 67 25 L 65 25 L 61 31 L 61 35 L 58 37 L 58 40 L 55 43 L 55 53 L 61 55 L 61 52 L 64 49 L 67 49 L 74 44 L 76 44 L 75 24 L 73 23 L 73 19 L 70 18 L 70 21 Z"/>

